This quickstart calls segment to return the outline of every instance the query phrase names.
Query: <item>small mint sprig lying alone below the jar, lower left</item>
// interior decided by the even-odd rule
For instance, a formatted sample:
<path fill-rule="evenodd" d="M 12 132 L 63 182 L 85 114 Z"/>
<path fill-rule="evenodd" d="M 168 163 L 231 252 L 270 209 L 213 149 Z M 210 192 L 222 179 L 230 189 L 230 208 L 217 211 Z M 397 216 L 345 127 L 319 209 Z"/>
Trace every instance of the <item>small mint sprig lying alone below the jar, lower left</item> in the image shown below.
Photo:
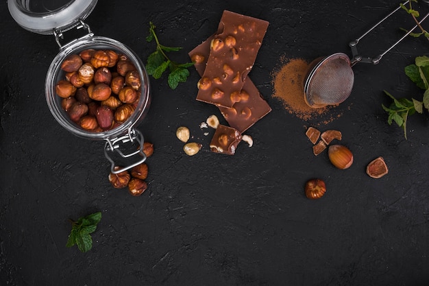
<path fill-rule="evenodd" d="M 90 234 L 95 232 L 100 220 L 101 212 L 93 213 L 86 217 L 80 217 L 77 219 L 77 222 L 70 219 L 71 233 L 67 240 L 66 247 L 71 248 L 77 245 L 77 248 L 79 248 L 81 252 L 87 252 L 93 248 L 93 238 Z"/>

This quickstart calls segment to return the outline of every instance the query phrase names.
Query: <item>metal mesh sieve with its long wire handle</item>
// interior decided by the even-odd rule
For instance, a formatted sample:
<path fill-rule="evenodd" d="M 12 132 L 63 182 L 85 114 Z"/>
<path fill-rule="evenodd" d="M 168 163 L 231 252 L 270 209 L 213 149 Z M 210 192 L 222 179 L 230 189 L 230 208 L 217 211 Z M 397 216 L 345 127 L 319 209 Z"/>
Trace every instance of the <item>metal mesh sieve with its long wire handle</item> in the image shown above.
<path fill-rule="evenodd" d="M 404 2 L 402 5 L 406 5 L 408 2 L 409 0 Z M 429 0 L 425 0 L 424 2 L 429 3 Z M 369 34 L 369 32 L 401 8 L 401 5 L 398 6 L 381 21 L 376 23 L 376 25 L 373 25 L 373 27 L 360 36 L 360 38 L 349 43 L 349 46 L 352 49 L 352 60 L 350 60 L 349 56 L 345 53 L 334 53 L 325 58 L 317 58 L 310 63 L 304 82 L 304 99 L 308 106 L 312 108 L 322 108 L 324 106 L 336 105 L 344 102 L 345 99 L 350 96 L 350 93 L 352 93 L 354 84 L 354 73 L 352 67 L 354 64 L 358 62 L 378 64 L 382 56 L 406 38 L 406 36 L 413 32 L 413 30 L 429 16 L 429 13 L 426 14 L 423 19 L 419 21 L 418 25 L 411 28 L 406 34 L 404 34 L 404 36 L 402 36 L 402 38 L 397 40 L 396 43 L 376 58 L 363 58 L 360 56 L 357 49 L 359 40 Z"/>

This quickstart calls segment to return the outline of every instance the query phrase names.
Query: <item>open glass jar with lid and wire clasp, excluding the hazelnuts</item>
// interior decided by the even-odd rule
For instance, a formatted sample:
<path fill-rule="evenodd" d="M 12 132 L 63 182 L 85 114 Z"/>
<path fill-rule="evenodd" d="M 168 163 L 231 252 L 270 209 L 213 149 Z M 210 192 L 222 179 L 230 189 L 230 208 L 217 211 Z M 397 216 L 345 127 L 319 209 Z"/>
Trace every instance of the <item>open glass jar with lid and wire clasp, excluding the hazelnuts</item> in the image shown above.
<path fill-rule="evenodd" d="M 52 34 L 56 37 L 60 51 L 51 62 L 45 81 L 45 95 L 49 110 L 56 121 L 72 134 L 84 139 L 105 140 L 104 154 L 111 163 L 111 171 L 117 174 L 146 160 L 143 152 L 143 134 L 135 127 L 149 110 L 151 102 L 149 76 L 134 51 L 112 38 L 94 36 L 90 27 L 84 23 L 84 19 L 93 11 L 96 3 L 97 0 L 62 0 L 57 1 L 55 7 L 48 8 L 43 1 L 11 0 L 8 1 L 8 8 L 16 23 L 21 27 L 31 32 Z M 73 28 L 84 28 L 88 33 L 61 45 L 60 38 L 63 33 Z M 140 74 L 140 99 L 136 104 L 136 109 L 130 118 L 112 130 L 91 132 L 82 129 L 69 118 L 61 106 L 62 98 L 56 95 L 56 83 L 65 78 L 65 72 L 60 68 L 62 62 L 67 56 L 79 54 L 85 49 L 110 49 L 123 54 L 130 59 Z M 134 147 L 135 145 L 137 148 Z M 125 163 L 121 162 L 119 165 L 115 163 L 122 159 Z"/>

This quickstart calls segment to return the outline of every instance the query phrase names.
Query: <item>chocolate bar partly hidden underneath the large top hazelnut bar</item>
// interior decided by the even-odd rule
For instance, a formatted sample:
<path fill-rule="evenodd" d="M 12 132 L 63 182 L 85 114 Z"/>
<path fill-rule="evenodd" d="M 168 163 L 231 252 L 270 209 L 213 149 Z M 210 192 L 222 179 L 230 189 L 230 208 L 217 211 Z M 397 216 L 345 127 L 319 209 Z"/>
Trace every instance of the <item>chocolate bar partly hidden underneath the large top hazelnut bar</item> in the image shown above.
<path fill-rule="evenodd" d="M 222 29 L 223 24 L 221 23 L 217 34 L 219 34 Z M 189 52 L 191 60 L 195 62 L 195 69 L 197 69 L 197 72 L 201 76 L 204 74 L 204 70 L 206 69 L 210 53 L 210 43 L 214 37 L 215 35 L 210 36 L 210 38 Z M 256 88 L 249 77 L 245 78 L 241 93 L 247 93 L 247 95 L 249 95 L 249 99 L 247 101 L 236 102 L 232 108 L 225 108 L 222 106 L 218 107 L 230 126 L 243 133 L 245 130 L 253 126 L 256 121 L 271 112 L 271 107 L 267 104 L 265 99 L 262 98 L 258 88 Z"/>

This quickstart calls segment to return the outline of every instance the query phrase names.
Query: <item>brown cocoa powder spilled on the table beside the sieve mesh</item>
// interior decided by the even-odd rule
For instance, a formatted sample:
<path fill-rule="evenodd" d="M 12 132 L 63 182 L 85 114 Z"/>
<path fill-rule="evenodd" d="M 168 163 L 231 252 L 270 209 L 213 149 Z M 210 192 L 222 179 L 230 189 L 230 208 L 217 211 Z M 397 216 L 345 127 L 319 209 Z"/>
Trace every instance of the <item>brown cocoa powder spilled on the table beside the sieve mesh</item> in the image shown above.
<path fill-rule="evenodd" d="M 308 121 L 319 119 L 318 124 L 326 124 L 340 115 L 332 115 L 328 119 L 321 118 L 328 110 L 335 106 L 311 108 L 304 100 L 304 80 L 308 72 L 309 63 L 300 58 L 281 59 L 282 67 L 273 73 L 273 96 L 282 100 L 284 108 L 299 119 Z"/>

